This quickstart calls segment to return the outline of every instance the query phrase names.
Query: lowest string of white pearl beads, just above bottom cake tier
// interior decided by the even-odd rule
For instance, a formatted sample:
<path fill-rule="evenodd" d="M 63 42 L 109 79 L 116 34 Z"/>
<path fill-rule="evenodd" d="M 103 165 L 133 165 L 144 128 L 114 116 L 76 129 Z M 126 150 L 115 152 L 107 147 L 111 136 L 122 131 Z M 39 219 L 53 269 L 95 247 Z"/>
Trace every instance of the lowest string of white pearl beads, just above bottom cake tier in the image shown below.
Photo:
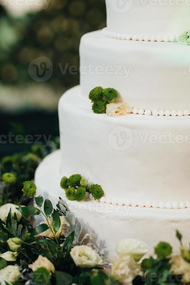
<path fill-rule="evenodd" d="M 94 197 L 92 197 L 92 194 L 89 192 L 86 192 L 86 198 L 94 200 Z M 112 205 L 118 205 L 118 206 L 132 206 L 132 207 L 146 207 L 146 208 L 160 208 L 160 209 L 185 209 L 185 208 L 190 208 L 190 202 L 181 202 L 181 203 L 158 203 L 158 202 L 123 202 L 122 199 L 117 199 L 117 198 L 106 198 L 106 197 L 101 197 L 101 199 L 96 200 L 101 203 L 105 204 L 112 204 Z"/>

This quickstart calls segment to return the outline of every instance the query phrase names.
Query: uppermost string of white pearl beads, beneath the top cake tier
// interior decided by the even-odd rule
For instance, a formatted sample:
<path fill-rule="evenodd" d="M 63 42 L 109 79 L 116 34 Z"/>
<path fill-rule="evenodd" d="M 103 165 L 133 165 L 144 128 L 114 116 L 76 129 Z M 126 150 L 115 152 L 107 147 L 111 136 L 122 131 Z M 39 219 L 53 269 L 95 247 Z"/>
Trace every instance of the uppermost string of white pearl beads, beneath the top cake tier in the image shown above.
<path fill-rule="evenodd" d="M 131 35 L 131 34 L 120 34 L 109 31 L 104 28 L 103 34 L 107 37 L 119 39 L 119 40 L 133 40 L 133 41 L 145 41 L 145 42 L 177 42 L 176 35 Z"/>

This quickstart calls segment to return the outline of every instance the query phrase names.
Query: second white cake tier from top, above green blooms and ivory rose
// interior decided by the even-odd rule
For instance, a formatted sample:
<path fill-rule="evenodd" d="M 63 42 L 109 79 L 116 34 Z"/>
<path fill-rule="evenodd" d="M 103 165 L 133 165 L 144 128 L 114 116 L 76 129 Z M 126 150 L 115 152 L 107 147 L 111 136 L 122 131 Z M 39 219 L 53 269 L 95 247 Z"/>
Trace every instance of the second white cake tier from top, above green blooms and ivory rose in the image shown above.
<path fill-rule="evenodd" d="M 190 47 L 88 33 L 80 43 L 80 84 L 86 97 L 96 86 L 115 88 L 132 108 L 190 110 Z"/>

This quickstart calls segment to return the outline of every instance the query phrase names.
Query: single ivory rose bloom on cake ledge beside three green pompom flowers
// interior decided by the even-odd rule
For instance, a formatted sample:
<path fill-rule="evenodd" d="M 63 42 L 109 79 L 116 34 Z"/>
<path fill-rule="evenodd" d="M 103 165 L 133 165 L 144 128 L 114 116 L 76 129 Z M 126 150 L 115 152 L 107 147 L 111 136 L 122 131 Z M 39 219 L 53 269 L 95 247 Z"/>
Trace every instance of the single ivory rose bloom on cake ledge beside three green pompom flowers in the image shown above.
<path fill-rule="evenodd" d="M 119 117 L 131 113 L 132 108 L 126 103 L 110 103 L 106 105 L 106 114 L 108 117 Z"/>

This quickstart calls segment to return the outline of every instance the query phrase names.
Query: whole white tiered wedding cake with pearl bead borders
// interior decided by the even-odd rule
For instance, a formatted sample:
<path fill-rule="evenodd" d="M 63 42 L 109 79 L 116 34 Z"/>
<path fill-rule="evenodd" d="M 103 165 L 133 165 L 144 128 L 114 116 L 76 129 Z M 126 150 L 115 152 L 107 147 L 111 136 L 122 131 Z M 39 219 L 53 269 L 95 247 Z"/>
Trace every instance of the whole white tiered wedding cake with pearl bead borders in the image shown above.
<path fill-rule="evenodd" d="M 67 204 L 110 255 L 126 237 L 150 252 L 161 240 L 175 245 L 176 229 L 188 243 L 190 47 L 176 42 L 190 29 L 188 1 L 106 2 L 107 28 L 81 39 L 80 86 L 60 99 L 61 150 L 37 169 L 38 194 L 56 205 L 62 176 L 75 173 L 100 184 L 100 201 Z M 115 88 L 132 112 L 93 113 L 96 86 Z"/>

